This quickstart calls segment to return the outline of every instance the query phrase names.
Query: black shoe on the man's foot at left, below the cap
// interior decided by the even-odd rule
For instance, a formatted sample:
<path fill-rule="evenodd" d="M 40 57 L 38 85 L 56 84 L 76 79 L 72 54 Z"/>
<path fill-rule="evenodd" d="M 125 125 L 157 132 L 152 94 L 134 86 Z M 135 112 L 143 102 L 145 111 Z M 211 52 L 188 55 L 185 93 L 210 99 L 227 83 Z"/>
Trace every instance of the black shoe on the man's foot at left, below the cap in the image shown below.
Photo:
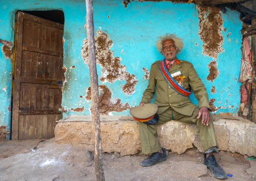
<path fill-rule="evenodd" d="M 164 153 L 152 153 L 152 155 L 149 158 L 146 158 L 143 162 L 141 162 L 142 166 L 152 166 L 156 163 L 162 162 L 166 160 L 166 153 L 165 148 L 162 148 L 162 151 Z"/>

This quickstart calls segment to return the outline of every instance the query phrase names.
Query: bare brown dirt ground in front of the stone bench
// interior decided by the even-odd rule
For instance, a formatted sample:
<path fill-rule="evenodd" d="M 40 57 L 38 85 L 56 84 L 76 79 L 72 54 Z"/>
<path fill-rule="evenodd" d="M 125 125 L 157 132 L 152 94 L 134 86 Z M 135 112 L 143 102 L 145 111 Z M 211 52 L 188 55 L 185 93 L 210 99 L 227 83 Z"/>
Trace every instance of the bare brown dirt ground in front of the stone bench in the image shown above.
<path fill-rule="evenodd" d="M 54 138 L 40 141 L 0 142 L 0 180 L 96 179 L 93 153 L 71 144 L 55 144 Z M 255 159 L 223 151 L 215 156 L 226 173 L 233 174 L 226 180 L 256 180 Z M 104 153 L 105 180 L 218 180 L 203 164 L 203 153 L 196 149 L 181 155 L 169 152 L 166 161 L 151 167 L 140 165 L 145 158 Z"/>

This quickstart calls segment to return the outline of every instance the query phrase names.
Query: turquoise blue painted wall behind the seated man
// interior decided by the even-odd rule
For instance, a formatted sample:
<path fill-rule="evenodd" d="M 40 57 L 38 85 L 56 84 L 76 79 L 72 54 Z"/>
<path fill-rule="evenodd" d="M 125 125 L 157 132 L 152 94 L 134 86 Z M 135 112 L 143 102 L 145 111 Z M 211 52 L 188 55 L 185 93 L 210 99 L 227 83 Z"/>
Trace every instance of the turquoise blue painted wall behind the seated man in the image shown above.
<path fill-rule="evenodd" d="M 18 3 L 17 3 L 18 2 Z M 62 10 L 65 14 L 64 36 L 64 65 L 67 67 L 65 87 L 63 89 L 62 106 L 68 110 L 63 113 L 63 117 L 70 114 L 90 114 L 91 101 L 86 101 L 86 89 L 90 86 L 89 68 L 84 63 L 81 56 L 83 40 L 86 38 L 86 5 L 85 1 L 1 1 L 0 2 L 0 38 L 14 41 L 15 12 L 18 10 Z M 218 56 L 218 69 L 220 75 L 214 82 L 208 81 L 209 75 L 207 65 L 213 61 L 212 57 L 202 54 L 203 41 L 198 35 L 199 18 L 198 10 L 194 4 L 173 4 L 171 2 L 132 2 L 125 9 L 121 1 L 94 1 L 94 24 L 95 35 L 98 29 L 106 33 L 113 41 L 111 50 L 114 56 L 119 56 L 125 65 L 127 72 L 136 75 L 138 84 L 136 92 L 125 95 L 120 85 L 125 81 L 115 81 L 105 83 L 112 91 L 112 98 L 121 99 L 122 103 L 129 103 L 131 106 L 138 105 L 141 101 L 142 93 L 146 89 L 148 80 L 143 79 L 144 67 L 150 70 L 150 66 L 155 61 L 162 59 L 155 46 L 159 36 L 166 33 L 176 33 L 184 38 L 184 48 L 178 54 L 179 59 L 185 59 L 194 64 L 195 69 L 202 78 L 210 98 L 215 98 L 214 105 L 223 108 L 221 112 L 237 112 L 240 103 L 240 83 L 238 77 L 241 65 L 241 22 L 239 13 L 227 10 L 224 14 L 224 28 L 227 30 L 224 36 L 224 52 Z M 108 16 L 110 16 L 108 18 Z M 231 32 L 228 38 L 227 34 Z M 198 46 L 196 44 L 198 43 Z M 119 46 L 118 46 L 119 45 Z M 121 52 L 121 50 L 123 51 Z M 120 53 L 121 52 L 121 53 Z M 5 59 L 0 52 L 0 100 L 3 102 L 0 107 L 0 126 L 10 128 L 10 114 L 8 107 L 11 98 L 12 64 L 10 59 Z M 75 69 L 70 67 L 76 66 Z M 99 77 L 101 67 L 97 66 Z M 102 84 L 99 81 L 99 84 Z M 216 94 L 211 94 L 211 88 L 215 85 Z M 2 90 L 8 86 L 7 92 Z M 195 103 L 195 96 L 191 96 Z M 222 100 L 222 102 L 221 102 Z M 226 100 L 228 100 L 226 102 Z M 225 104 L 224 104 L 225 103 Z M 83 107 L 83 112 L 70 110 L 71 108 Z M 234 106 L 231 108 L 231 106 Z M 129 111 L 112 112 L 112 114 L 129 114 Z"/>

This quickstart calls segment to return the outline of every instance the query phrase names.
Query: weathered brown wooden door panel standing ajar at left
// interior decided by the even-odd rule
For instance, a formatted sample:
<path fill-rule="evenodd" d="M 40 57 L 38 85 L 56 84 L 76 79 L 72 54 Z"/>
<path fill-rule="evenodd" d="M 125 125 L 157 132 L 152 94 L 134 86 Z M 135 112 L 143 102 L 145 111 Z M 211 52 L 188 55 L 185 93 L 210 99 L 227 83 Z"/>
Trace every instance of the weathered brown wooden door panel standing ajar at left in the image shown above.
<path fill-rule="evenodd" d="M 54 137 L 62 118 L 63 25 L 17 14 L 12 140 Z"/>

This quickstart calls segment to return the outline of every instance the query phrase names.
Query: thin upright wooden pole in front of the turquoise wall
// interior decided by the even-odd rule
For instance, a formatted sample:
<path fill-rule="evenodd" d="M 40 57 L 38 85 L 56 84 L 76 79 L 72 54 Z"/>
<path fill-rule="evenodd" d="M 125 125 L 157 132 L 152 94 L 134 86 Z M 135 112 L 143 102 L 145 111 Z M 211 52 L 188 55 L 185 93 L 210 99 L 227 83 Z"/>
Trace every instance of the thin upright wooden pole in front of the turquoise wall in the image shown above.
<path fill-rule="evenodd" d="M 102 165 L 101 134 L 100 134 L 100 112 L 99 112 L 99 91 L 98 74 L 96 69 L 95 43 L 94 43 L 94 24 L 93 24 L 93 5 L 92 0 L 86 0 L 86 23 L 87 23 L 87 43 L 89 55 L 89 70 L 92 94 L 92 129 L 94 142 L 94 162 L 96 180 L 103 181 L 104 170 Z"/>

